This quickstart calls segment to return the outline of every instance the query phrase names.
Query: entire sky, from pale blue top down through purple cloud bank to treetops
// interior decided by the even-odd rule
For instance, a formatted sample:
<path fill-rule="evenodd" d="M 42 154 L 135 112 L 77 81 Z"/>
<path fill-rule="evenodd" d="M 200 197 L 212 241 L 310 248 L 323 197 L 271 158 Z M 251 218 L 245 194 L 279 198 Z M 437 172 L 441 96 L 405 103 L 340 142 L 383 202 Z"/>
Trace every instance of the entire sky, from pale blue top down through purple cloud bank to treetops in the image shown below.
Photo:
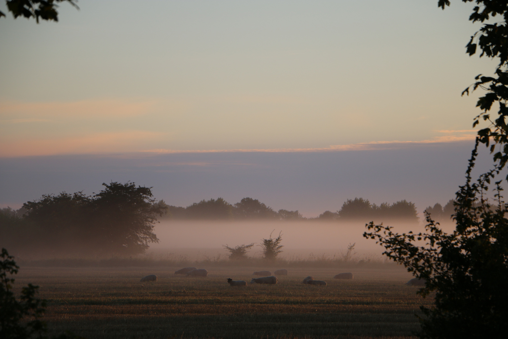
<path fill-rule="evenodd" d="M 481 93 L 460 94 L 495 66 L 465 54 L 471 4 L 78 5 L 0 19 L 0 207 L 131 180 L 311 217 L 356 196 L 422 211 L 463 182 Z"/>

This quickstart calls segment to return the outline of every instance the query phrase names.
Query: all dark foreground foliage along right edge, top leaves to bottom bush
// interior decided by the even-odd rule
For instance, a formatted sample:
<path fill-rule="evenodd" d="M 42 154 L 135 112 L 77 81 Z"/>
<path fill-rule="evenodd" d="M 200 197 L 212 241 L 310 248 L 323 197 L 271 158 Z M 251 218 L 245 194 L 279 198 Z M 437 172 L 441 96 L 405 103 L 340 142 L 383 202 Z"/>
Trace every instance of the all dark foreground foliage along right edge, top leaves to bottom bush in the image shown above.
<path fill-rule="evenodd" d="M 462 0 L 472 2 L 472 0 Z M 508 319 L 508 204 L 503 201 L 502 183 L 498 179 L 508 161 L 508 137 L 505 116 L 508 114 L 508 2 L 506 0 L 476 0 L 469 20 L 486 22 L 500 15 L 500 22 L 484 23 L 467 44 L 473 55 L 498 58 L 493 77 L 479 75 L 472 87 L 486 90 L 478 100 L 482 112 L 474 118 L 473 126 L 486 121 L 488 126 L 478 132 L 466 171 L 466 183 L 456 193 L 453 220 L 456 228 L 447 234 L 429 213 L 426 232 L 398 234 L 390 226 L 367 225 L 367 238 L 382 244 L 390 259 L 403 264 L 408 271 L 424 279 L 425 287 L 418 293 L 434 293 L 432 307 L 421 307 L 422 338 L 504 338 Z M 445 8 L 447 0 L 439 0 Z M 492 117 L 490 110 L 497 107 Z M 491 170 L 477 180 L 471 171 L 477 161 L 478 147 L 490 145 L 493 154 Z M 508 179 L 508 177 L 506 177 Z M 492 193 L 490 193 L 492 192 Z M 488 199 L 488 196 L 491 199 Z M 492 199 L 493 198 L 493 199 Z"/>

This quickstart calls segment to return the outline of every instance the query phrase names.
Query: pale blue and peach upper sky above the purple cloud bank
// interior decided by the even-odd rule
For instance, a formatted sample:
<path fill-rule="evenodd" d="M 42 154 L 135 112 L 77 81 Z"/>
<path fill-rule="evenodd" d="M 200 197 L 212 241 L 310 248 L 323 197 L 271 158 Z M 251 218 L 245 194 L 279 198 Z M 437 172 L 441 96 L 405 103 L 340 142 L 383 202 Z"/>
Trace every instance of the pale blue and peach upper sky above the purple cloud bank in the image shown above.
<path fill-rule="evenodd" d="M 79 6 L 0 20 L 1 155 L 430 140 L 470 129 L 460 93 L 493 71 L 458 2 Z"/>

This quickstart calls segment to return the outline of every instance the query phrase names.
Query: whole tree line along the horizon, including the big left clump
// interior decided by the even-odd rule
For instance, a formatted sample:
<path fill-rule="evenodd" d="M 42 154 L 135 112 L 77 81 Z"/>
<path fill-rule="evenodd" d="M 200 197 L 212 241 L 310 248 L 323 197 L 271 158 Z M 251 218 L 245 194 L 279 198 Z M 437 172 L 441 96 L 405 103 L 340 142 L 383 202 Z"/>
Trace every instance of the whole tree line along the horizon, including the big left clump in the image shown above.
<path fill-rule="evenodd" d="M 157 242 L 153 227 L 157 219 L 231 221 L 358 221 L 418 222 L 414 203 L 372 204 L 367 199 L 345 201 L 336 212 L 325 211 L 304 218 L 298 210 L 275 211 L 258 199 L 243 198 L 231 204 L 223 198 L 201 200 L 187 207 L 156 201 L 151 188 L 134 182 L 103 183 L 91 196 L 83 192 L 43 195 L 18 210 L 0 209 L 0 245 L 15 253 L 45 255 L 132 255 L 143 253 Z M 451 214 L 453 201 L 427 211 L 438 218 Z"/>

